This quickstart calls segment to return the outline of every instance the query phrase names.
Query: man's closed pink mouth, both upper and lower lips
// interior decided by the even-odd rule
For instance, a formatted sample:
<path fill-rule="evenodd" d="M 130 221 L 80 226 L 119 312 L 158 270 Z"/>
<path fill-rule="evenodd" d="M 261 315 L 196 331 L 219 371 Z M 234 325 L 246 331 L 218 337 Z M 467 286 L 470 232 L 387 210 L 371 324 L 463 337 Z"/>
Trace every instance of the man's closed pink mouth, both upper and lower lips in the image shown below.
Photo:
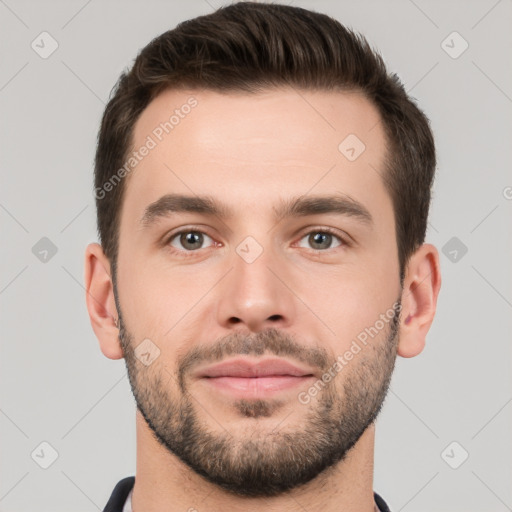
<path fill-rule="evenodd" d="M 265 398 L 290 391 L 315 378 L 313 371 L 284 359 L 232 359 L 196 373 L 210 389 L 237 398 Z"/>

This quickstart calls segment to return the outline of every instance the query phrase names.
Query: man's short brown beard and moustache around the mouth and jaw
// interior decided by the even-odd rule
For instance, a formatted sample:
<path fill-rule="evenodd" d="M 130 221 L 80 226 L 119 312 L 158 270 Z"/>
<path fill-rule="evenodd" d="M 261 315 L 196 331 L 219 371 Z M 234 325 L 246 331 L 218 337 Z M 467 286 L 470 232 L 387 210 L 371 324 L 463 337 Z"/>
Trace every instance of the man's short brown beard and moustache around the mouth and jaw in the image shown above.
<path fill-rule="evenodd" d="M 305 362 L 324 374 L 336 359 L 320 347 L 306 348 L 288 333 L 272 328 L 251 334 L 234 332 L 214 345 L 196 346 L 177 358 L 176 369 L 170 373 L 158 359 L 146 367 L 136 358 L 134 336 L 125 328 L 117 306 L 131 389 L 156 440 L 195 473 L 236 496 L 278 496 L 326 475 L 376 420 L 389 389 L 400 309 L 383 329 L 383 340 L 379 333 L 363 346 L 335 378 L 322 382 L 323 389 L 307 405 L 298 399 L 292 404 L 293 412 L 301 415 L 300 424 L 286 428 L 278 424 L 271 430 L 251 420 L 250 431 L 230 433 L 222 425 L 213 431 L 201 417 L 208 412 L 191 394 L 187 379 L 190 369 L 200 362 L 271 354 Z M 290 402 L 242 399 L 232 400 L 229 406 L 240 418 L 261 418 L 272 416 Z"/>

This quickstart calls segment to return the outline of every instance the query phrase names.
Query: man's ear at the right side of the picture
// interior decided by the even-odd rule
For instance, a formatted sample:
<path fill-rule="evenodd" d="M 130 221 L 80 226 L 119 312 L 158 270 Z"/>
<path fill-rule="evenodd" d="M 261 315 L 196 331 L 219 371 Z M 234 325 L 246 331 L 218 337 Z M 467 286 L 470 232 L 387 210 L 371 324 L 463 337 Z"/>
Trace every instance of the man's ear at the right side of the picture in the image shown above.
<path fill-rule="evenodd" d="M 414 357 L 424 349 L 440 288 L 439 253 L 432 244 L 423 244 L 412 254 L 405 274 L 399 356 Z"/>

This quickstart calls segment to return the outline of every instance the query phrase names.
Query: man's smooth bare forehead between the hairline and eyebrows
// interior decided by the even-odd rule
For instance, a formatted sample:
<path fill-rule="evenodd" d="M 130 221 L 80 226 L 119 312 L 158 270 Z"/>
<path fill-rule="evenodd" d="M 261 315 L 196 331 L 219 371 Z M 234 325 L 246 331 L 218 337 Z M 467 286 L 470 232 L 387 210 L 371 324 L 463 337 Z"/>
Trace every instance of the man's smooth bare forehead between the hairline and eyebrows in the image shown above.
<path fill-rule="evenodd" d="M 240 214 L 313 192 L 390 207 L 380 116 L 358 92 L 168 90 L 142 112 L 132 150 L 130 222 L 165 193 L 222 196 Z"/>

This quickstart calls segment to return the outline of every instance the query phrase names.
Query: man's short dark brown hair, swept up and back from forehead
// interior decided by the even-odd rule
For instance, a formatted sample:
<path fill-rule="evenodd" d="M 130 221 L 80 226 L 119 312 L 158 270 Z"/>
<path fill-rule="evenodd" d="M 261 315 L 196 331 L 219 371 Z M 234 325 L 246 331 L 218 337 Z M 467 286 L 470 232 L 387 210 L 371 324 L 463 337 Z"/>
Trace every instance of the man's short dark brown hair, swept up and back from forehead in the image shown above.
<path fill-rule="evenodd" d="M 153 39 L 121 74 L 105 108 L 95 190 L 124 165 L 135 122 L 163 90 L 255 93 L 287 85 L 360 91 L 380 112 L 387 139 L 381 175 L 393 202 L 403 283 L 409 257 L 423 243 L 427 228 L 436 165 L 429 121 L 366 39 L 325 14 L 239 2 Z M 98 232 L 114 279 L 125 187 L 123 179 L 108 195 L 96 195 Z"/>

